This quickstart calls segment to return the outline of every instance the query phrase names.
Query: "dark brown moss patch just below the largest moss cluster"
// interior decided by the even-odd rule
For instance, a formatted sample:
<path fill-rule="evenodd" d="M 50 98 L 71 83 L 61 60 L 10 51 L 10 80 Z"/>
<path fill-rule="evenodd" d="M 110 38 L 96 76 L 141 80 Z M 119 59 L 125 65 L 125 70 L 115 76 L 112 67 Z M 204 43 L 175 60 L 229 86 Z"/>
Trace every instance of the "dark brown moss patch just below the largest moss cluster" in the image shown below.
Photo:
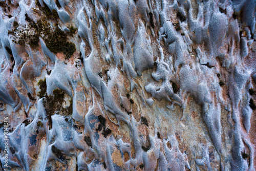
<path fill-rule="evenodd" d="M 48 95 L 46 92 L 46 90 L 47 90 L 46 79 L 44 79 L 44 80 L 40 79 L 38 81 L 37 85 L 40 88 L 40 91 L 37 93 L 37 96 L 39 96 L 39 98 L 45 97 L 44 100 L 42 101 L 42 103 L 44 104 L 44 107 L 46 110 L 49 127 L 50 127 L 50 129 L 52 129 L 51 116 L 54 115 L 55 113 L 60 114 L 60 115 L 65 115 L 65 116 L 72 114 L 73 99 L 71 98 L 70 105 L 68 106 L 68 108 L 63 108 L 62 103 L 64 102 L 65 92 L 63 92 L 62 90 L 59 90 L 59 89 L 55 89 L 53 91 L 53 96 Z"/>

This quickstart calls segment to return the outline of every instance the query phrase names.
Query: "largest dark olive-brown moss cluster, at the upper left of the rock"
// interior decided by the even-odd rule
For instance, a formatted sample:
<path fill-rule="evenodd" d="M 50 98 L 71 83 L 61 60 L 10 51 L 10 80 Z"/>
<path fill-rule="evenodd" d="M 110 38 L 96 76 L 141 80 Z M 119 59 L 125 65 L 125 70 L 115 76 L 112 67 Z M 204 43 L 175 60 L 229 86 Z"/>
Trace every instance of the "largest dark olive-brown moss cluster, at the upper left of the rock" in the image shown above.
<path fill-rule="evenodd" d="M 57 22 L 58 14 L 56 10 L 51 12 L 47 5 L 45 5 L 45 7 L 41 7 L 38 1 L 37 6 L 44 11 L 48 19 L 53 19 Z M 32 48 L 37 48 L 39 37 L 42 37 L 42 39 L 45 40 L 47 48 L 51 52 L 62 52 L 65 54 L 66 59 L 69 59 L 76 51 L 75 44 L 68 41 L 68 36 L 73 36 L 77 31 L 77 28 L 71 26 L 69 28 L 70 32 L 65 33 L 58 28 L 57 24 L 52 27 L 45 17 L 42 17 L 35 23 L 27 14 L 26 21 L 28 22 L 28 25 L 26 26 L 19 25 L 15 21 L 13 23 L 14 29 L 12 31 L 8 31 L 8 34 L 13 35 L 13 41 L 15 44 L 22 46 L 30 45 Z"/>

